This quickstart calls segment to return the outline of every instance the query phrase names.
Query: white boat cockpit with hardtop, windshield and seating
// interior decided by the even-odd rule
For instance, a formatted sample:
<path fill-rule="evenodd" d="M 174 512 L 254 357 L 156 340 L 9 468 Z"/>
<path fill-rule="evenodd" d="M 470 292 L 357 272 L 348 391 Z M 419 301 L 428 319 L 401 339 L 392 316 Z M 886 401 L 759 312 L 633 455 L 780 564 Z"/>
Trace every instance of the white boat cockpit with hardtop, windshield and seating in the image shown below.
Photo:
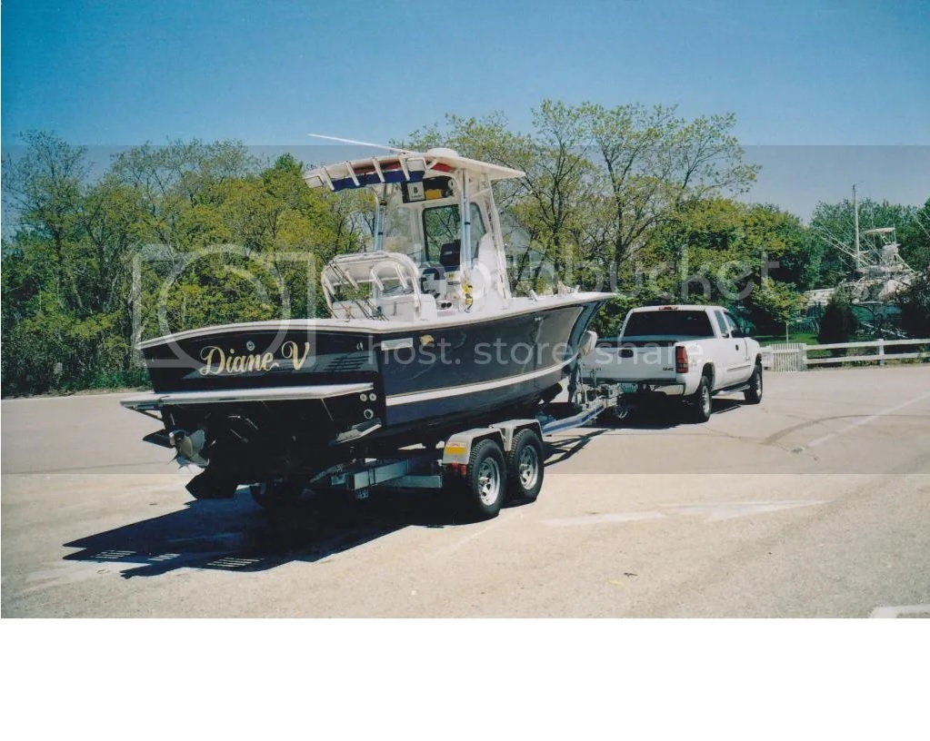
<path fill-rule="evenodd" d="M 338 255 L 321 272 L 333 318 L 431 320 L 511 305 L 491 183 L 523 175 L 447 149 L 306 173 L 312 188 L 369 188 L 377 200 L 370 248 Z"/>

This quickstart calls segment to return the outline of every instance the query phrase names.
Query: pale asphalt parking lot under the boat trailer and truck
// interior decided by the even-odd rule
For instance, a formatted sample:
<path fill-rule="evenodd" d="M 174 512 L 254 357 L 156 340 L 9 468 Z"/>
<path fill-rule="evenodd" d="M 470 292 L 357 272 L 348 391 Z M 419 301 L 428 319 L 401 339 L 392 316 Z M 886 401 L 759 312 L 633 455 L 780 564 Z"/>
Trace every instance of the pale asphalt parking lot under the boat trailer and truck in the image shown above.
<path fill-rule="evenodd" d="M 539 499 L 195 501 L 119 395 L 5 400 L 4 617 L 924 617 L 930 368 L 551 437 Z"/>

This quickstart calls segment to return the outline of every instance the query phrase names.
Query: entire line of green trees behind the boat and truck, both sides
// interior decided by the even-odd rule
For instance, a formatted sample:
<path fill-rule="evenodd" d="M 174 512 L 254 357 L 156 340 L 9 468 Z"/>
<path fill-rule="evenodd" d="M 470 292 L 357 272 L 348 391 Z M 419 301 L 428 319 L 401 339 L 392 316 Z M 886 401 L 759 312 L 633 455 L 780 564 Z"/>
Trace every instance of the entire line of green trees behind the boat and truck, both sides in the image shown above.
<path fill-rule="evenodd" d="M 528 132 L 500 113 L 449 115 L 406 146 L 525 173 L 494 186 L 518 293 L 615 290 L 595 325 L 607 333 L 632 305 L 671 301 L 730 305 L 780 331 L 800 292 L 848 274 L 824 235 L 845 239 L 850 204 L 820 204 L 805 228 L 734 200 L 758 170 L 734 125 L 729 114 L 543 100 Z M 165 331 L 323 316 L 319 268 L 371 236 L 370 193 L 308 189 L 290 155 L 261 162 L 235 141 L 145 144 L 91 179 L 83 148 L 23 138 L 3 168 L 14 221 L 3 241 L 4 394 L 145 383 L 133 347 Z M 896 226 L 901 254 L 926 268 L 930 202 L 861 208 L 863 228 Z M 902 301 L 902 316 L 924 326 L 925 293 Z"/>

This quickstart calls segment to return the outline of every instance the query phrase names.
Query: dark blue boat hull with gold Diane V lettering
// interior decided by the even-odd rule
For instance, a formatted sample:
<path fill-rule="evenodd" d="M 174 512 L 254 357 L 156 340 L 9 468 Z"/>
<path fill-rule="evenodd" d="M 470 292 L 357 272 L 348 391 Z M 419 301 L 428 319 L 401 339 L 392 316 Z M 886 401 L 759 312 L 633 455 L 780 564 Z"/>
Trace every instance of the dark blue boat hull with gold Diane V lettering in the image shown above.
<path fill-rule="evenodd" d="M 181 335 L 143 352 L 156 393 L 370 384 L 370 394 L 322 401 L 162 409 L 167 432 L 206 430 L 210 468 L 257 480 L 532 415 L 572 372 L 603 301 L 413 331 L 243 325 Z"/>

